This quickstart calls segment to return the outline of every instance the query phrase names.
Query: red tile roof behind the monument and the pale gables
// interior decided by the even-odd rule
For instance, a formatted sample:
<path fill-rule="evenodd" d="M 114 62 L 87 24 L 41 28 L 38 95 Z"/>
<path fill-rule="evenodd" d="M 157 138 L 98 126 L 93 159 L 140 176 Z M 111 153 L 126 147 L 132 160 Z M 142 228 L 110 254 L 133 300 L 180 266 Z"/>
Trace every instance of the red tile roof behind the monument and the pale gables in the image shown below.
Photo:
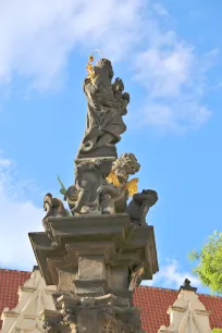
<path fill-rule="evenodd" d="M 29 272 L 0 269 L 0 313 L 8 307 L 13 309 L 17 301 L 17 288 L 29 279 Z M 157 333 L 161 325 L 169 325 L 166 314 L 177 297 L 177 292 L 158 287 L 140 286 L 134 294 L 134 304 L 141 308 L 143 328 L 147 333 Z M 222 297 L 199 295 L 206 309 L 212 311 L 210 316 L 211 328 L 222 328 Z M 1 328 L 1 322 L 0 322 Z"/>

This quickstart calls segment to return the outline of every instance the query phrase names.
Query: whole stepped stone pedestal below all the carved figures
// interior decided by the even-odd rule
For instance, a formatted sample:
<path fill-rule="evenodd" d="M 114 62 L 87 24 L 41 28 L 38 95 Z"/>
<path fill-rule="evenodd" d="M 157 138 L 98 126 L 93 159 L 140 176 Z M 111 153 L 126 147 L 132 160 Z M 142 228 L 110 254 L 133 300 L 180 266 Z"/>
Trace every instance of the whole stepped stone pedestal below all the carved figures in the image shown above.
<path fill-rule="evenodd" d="M 49 218 L 48 233 L 29 233 L 47 285 L 57 285 L 46 332 L 140 333 L 128 291 L 131 274 L 158 271 L 152 226 L 132 226 L 128 214 Z"/>

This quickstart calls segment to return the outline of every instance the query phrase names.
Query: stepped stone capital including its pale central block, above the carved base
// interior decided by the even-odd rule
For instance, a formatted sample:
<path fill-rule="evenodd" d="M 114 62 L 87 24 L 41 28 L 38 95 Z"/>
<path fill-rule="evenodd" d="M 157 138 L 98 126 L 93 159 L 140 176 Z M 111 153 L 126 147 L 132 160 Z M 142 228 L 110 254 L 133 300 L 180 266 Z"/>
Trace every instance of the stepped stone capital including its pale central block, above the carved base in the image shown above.
<path fill-rule="evenodd" d="M 140 262 L 145 280 L 158 271 L 153 227 L 131 226 L 128 214 L 49 218 L 46 223 L 50 238 L 47 233 L 29 233 L 29 238 L 46 284 L 59 291 L 73 291 L 75 279 L 107 279 L 111 293 L 125 292 L 130 270 Z"/>

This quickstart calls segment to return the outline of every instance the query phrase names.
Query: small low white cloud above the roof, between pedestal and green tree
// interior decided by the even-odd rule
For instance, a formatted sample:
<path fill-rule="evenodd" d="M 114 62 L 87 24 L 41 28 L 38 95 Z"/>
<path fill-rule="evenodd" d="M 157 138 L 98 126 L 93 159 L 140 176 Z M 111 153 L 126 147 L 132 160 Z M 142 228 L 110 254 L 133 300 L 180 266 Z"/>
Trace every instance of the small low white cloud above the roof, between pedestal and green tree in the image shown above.
<path fill-rule="evenodd" d="M 200 287 L 201 282 L 193 274 L 185 272 L 176 260 L 168 260 L 168 264 L 162 266 L 152 281 L 143 281 L 144 285 L 156 285 L 165 288 L 178 288 L 185 279 L 192 282 L 192 286 Z"/>

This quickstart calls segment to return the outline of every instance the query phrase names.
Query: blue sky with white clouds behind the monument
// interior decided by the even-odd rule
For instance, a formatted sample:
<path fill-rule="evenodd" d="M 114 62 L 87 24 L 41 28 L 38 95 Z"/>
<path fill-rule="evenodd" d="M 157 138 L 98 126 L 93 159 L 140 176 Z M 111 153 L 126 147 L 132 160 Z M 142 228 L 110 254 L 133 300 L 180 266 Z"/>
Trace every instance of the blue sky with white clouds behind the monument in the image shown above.
<path fill-rule="evenodd" d="M 134 152 L 139 188 L 159 201 L 160 273 L 177 288 L 187 254 L 221 230 L 222 3 L 214 0 L 15 0 L 0 3 L 0 266 L 32 270 L 27 232 L 42 197 L 73 182 L 83 137 L 85 66 L 98 48 L 131 94 L 119 155 Z"/>

